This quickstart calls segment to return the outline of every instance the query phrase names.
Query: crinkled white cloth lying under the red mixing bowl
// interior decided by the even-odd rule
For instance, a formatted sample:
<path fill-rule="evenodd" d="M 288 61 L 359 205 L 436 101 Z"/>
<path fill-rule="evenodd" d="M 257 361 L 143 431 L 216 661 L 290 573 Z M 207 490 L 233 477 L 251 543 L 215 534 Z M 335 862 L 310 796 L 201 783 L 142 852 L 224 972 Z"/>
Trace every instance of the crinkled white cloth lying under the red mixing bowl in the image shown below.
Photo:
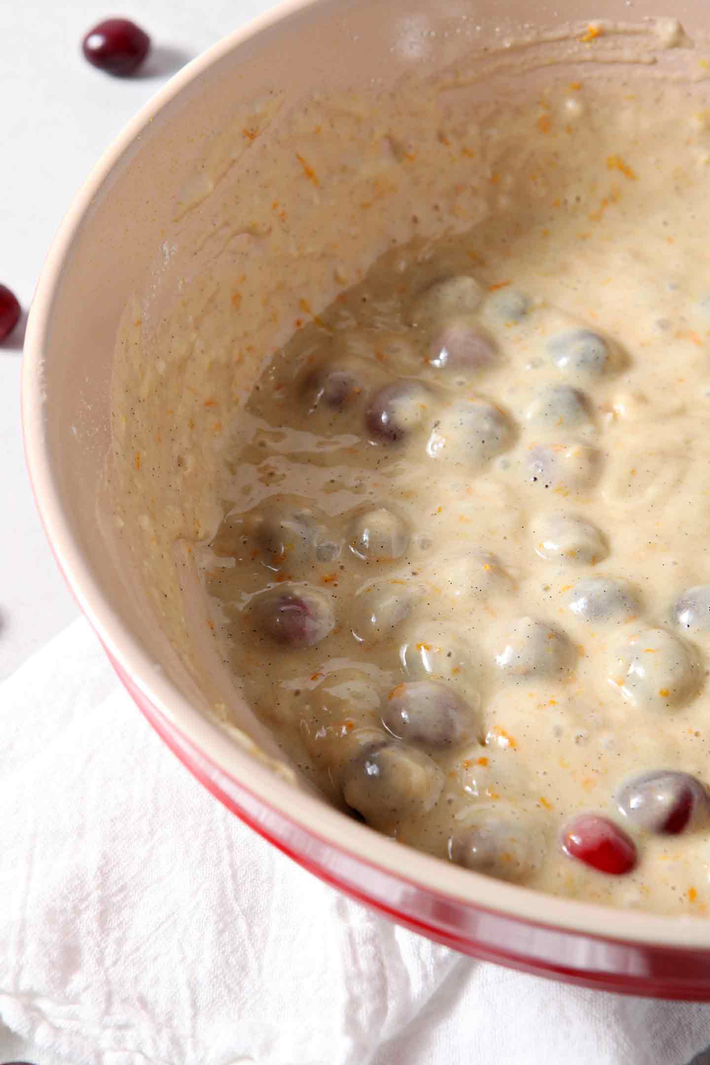
<path fill-rule="evenodd" d="M 0 705 L 0 1020 L 36 1065 L 686 1065 L 710 1043 L 710 1006 L 477 963 L 320 884 L 189 776 L 84 621 Z"/>

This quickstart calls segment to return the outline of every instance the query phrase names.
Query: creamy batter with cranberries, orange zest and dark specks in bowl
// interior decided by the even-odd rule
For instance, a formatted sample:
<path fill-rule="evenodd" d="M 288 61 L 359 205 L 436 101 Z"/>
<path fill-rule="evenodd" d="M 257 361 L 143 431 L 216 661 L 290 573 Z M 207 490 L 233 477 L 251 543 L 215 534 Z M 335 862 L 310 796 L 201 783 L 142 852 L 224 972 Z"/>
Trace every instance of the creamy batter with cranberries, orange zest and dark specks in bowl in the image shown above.
<path fill-rule="evenodd" d="M 303 196 L 337 180 L 329 150 L 299 153 Z M 545 76 L 485 115 L 411 116 L 378 151 L 387 173 L 427 157 L 409 239 L 367 268 L 333 255 L 325 307 L 295 256 L 291 337 L 231 414 L 209 367 L 191 381 L 231 417 L 203 470 L 212 528 L 175 530 L 217 645 L 375 829 L 705 914 L 710 113 L 681 82 Z M 473 224 L 447 167 L 476 176 Z M 386 182 L 353 187 L 348 217 L 386 234 Z M 195 448 L 178 458 L 199 476 Z"/>

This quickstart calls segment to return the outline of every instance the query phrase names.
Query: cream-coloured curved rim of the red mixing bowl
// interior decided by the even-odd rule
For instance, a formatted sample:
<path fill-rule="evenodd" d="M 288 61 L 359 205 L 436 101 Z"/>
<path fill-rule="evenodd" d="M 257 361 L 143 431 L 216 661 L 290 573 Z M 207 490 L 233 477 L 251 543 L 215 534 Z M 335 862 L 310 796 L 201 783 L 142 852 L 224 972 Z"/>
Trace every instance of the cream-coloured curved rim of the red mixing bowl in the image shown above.
<path fill-rule="evenodd" d="M 595 939 L 653 944 L 694 951 L 709 950 L 710 921 L 701 917 L 658 915 L 602 906 L 502 883 L 453 865 L 445 867 L 443 859 L 402 847 L 346 817 L 323 800 L 298 791 L 260 759 L 240 748 L 217 724 L 209 721 L 163 671 L 155 668 L 152 656 L 119 620 L 111 601 L 94 581 L 89 566 L 82 557 L 72 535 L 62 494 L 52 475 L 45 419 L 44 351 L 46 338 L 51 330 L 54 297 L 63 265 L 71 255 L 73 240 L 83 218 L 114 167 L 138 137 L 150 136 L 150 125 L 155 116 L 184 89 L 220 60 L 237 51 L 244 43 L 275 23 L 288 16 L 317 7 L 332 7 L 336 3 L 337 0 L 283 0 L 196 56 L 128 122 L 75 196 L 50 245 L 37 282 L 28 321 L 22 363 L 21 412 L 26 459 L 50 546 L 82 611 L 104 648 L 132 678 L 142 695 L 189 742 L 201 750 L 218 772 L 232 777 L 266 808 L 286 821 L 319 837 L 335 851 L 345 851 L 359 862 L 383 869 L 404 883 L 475 910 Z"/>

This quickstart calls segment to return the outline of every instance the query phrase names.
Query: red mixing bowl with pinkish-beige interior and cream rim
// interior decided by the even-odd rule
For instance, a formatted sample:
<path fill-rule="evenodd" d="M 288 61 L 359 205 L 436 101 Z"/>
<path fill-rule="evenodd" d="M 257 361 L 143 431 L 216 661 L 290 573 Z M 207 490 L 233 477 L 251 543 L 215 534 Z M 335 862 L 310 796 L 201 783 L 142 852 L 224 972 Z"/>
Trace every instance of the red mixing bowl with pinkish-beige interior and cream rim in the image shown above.
<path fill-rule="evenodd" d="M 81 608 L 141 710 L 237 817 L 340 890 L 456 950 L 591 987 L 710 999 L 710 921 L 544 896 L 429 857 L 275 769 L 278 749 L 238 699 L 230 704 L 236 728 L 221 727 L 209 712 L 212 693 L 162 627 L 135 558 L 97 518 L 119 320 L 136 291 L 164 306 L 178 298 L 185 263 L 178 255 L 176 265 L 170 248 L 188 257 L 233 182 L 208 189 L 198 212 L 180 217 L 176 201 L 203 174 L 216 131 L 241 101 L 265 89 L 295 100 L 373 78 L 392 83 L 465 49 L 475 56 L 521 28 L 529 36 L 572 20 L 578 34 L 590 15 L 673 14 L 691 33 L 710 28 L 710 9 L 697 0 L 676 0 L 672 13 L 660 0 L 627 3 L 290 2 L 191 63 L 98 163 L 54 241 L 27 333 L 23 424 L 42 518 Z"/>

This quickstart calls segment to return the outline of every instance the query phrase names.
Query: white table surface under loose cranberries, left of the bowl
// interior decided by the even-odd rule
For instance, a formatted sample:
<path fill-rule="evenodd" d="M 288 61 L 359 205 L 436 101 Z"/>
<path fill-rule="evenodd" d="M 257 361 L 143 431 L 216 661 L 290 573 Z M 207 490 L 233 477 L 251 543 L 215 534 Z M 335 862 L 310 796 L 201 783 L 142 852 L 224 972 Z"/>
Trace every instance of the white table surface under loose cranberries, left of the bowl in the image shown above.
<path fill-rule="evenodd" d="M 26 312 L 52 236 L 104 148 L 187 60 L 269 6 L 269 0 L 142 0 L 117 11 L 100 0 L 0 0 L 0 282 Z M 103 75 L 80 51 L 84 33 L 115 14 L 132 17 L 153 40 L 144 70 L 130 79 Z M 78 613 L 47 545 L 24 468 L 24 318 L 0 343 L 0 679 Z M 0 1063 L 31 1051 L 0 1031 Z M 710 1065 L 710 1058 L 704 1060 Z"/>

